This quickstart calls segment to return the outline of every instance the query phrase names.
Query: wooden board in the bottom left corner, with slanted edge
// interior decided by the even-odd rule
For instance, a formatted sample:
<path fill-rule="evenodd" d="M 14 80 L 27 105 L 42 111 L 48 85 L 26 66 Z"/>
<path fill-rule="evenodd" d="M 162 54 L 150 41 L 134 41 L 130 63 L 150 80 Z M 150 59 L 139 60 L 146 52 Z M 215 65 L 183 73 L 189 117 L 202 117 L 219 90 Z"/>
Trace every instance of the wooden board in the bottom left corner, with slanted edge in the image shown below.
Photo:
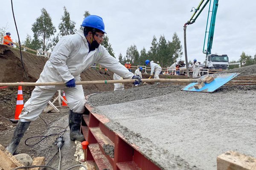
<path fill-rule="evenodd" d="M 1 144 L 0 144 L 0 167 L 3 170 L 12 170 L 16 167 L 23 167 L 24 165 L 20 163 L 11 153 L 9 153 Z M 25 170 L 20 169 L 20 170 Z"/>

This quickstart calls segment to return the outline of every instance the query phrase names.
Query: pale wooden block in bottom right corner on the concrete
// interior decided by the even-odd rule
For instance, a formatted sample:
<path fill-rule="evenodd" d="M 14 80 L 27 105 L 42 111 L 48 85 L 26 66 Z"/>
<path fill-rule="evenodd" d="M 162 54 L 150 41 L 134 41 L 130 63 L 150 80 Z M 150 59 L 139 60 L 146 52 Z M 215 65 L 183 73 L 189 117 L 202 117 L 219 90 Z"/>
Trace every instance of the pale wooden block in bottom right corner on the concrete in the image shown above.
<path fill-rule="evenodd" d="M 256 159 L 228 151 L 217 157 L 217 170 L 256 170 Z"/>

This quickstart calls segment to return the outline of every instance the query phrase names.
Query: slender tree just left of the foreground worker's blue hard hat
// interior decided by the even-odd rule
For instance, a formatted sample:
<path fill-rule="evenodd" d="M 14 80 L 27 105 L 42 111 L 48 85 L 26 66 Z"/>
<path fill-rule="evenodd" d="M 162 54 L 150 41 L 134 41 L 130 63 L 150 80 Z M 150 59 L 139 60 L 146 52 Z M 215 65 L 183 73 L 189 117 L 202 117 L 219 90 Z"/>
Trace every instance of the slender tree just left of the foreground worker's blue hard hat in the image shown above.
<path fill-rule="evenodd" d="M 64 6 L 63 9 L 64 9 L 64 14 L 61 17 L 61 23 L 59 23 L 58 25 L 58 29 L 60 31 L 59 35 L 65 36 L 65 35 L 75 34 L 76 23 L 70 20 L 70 13 L 67 11 L 67 8 Z"/>

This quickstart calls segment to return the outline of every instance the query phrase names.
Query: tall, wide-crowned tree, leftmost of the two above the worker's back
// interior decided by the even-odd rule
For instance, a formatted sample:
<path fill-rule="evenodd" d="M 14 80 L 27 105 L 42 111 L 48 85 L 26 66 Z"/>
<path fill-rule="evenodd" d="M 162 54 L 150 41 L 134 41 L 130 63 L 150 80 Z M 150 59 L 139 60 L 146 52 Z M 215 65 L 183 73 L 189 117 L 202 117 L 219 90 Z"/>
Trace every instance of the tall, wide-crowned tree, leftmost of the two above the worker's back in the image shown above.
<path fill-rule="evenodd" d="M 38 17 L 35 23 L 32 24 L 32 31 L 34 33 L 34 39 L 38 40 L 41 44 L 43 51 L 49 50 L 50 37 L 56 32 L 52 23 L 52 18 L 48 14 L 45 8 L 41 9 L 41 16 Z"/>

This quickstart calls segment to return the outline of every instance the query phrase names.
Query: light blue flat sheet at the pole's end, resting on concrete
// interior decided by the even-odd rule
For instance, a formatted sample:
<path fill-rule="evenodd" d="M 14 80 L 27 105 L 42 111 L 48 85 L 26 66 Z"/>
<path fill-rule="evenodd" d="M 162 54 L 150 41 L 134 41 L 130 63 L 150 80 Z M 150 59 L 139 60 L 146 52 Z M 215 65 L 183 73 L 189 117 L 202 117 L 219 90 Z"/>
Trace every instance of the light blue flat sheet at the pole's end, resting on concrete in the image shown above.
<path fill-rule="evenodd" d="M 195 82 L 190 83 L 186 87 L 182 88 L 181 90 L 183 91 L 197 91 L 197 92 L 208 92 L 212 93 L 227 82 L 229 82 L 231 79 L 235 78 L 238 76 L 240 73 L 219 73 L 219 74 L 209 74 L 209 75 L 204 75 L 200 77 L 199 79 L 204 79 L 205 77 L 213 77 L 214 80 L 210 83 L 204 83 L 204 87 L 201 89 L 195 89 L 194 85 L 197 84 Z"/>

